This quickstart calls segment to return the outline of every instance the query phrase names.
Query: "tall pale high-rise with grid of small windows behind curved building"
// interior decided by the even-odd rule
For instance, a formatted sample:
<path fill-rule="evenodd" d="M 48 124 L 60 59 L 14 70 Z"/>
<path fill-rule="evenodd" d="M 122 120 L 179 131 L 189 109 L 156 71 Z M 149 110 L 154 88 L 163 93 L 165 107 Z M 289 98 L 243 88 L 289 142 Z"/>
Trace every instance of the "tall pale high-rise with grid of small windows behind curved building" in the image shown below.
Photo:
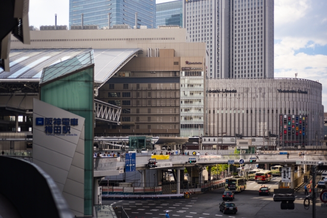
<path fill-rule="evenodd" d="M 274 0 L 188 0 L 183 23 L 206 42 L 209 78 L 273 78 Z"/>

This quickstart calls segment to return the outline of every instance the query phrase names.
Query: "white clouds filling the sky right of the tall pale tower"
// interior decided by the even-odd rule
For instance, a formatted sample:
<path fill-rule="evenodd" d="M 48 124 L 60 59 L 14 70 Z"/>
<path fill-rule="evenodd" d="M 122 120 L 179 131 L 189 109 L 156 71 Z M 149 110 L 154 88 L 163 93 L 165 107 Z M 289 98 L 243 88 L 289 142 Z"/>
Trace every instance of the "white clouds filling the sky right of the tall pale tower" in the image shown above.
<path fill-rule="evenodd" d="M 327 55 L 296 52 L 314 49 L 327 51 L 327 1 L 275 0 L 275 77 L 319 81 L 322 104 L 327 107 Z M 308 50 L 305 50 L 308 51 Z"/>

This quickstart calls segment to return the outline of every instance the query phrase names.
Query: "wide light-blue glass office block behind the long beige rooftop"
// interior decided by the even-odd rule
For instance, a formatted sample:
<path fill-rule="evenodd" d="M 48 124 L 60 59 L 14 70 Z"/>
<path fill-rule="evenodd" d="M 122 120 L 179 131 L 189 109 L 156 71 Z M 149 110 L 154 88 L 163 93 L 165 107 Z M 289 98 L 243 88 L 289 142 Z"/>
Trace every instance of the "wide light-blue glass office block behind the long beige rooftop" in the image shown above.
<path fill-rule="evenodd" d="M 155 0 L 69 0 L 69 27 L 81 25 L 83 14 L 84 25 L 106 28 L 110 13 L 111 27 L 127 24 L 133 28 L 137 12 L 137 28 L 140 26 L 155 28 L 155 7 Z"/>

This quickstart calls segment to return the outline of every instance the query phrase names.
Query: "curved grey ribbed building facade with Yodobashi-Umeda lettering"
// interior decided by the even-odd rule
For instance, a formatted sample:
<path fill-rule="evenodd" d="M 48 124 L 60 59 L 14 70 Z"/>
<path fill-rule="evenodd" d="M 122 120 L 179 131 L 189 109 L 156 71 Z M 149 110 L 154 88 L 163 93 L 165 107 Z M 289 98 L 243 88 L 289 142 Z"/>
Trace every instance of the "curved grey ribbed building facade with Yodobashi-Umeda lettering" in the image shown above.
<path fill-rule="evenodd" d="M 322 85 L 304 79 L 207 81 L 208 136 L 278 135 L 278 147 L 321 146 Z"/>

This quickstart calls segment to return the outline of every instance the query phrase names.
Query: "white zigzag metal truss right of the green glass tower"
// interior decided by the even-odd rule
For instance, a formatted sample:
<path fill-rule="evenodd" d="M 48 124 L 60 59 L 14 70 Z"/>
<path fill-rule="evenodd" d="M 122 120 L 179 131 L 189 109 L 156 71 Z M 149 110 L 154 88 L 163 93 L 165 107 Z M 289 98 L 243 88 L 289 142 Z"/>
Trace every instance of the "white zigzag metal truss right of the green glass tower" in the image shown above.
<path fill-rule="evenodd" d="M 96 120 L 120 124 L 119 118 L 122 110 L 121 107 L 110 105 L 97 99 L 94 100 L 94 104 Z"/>

